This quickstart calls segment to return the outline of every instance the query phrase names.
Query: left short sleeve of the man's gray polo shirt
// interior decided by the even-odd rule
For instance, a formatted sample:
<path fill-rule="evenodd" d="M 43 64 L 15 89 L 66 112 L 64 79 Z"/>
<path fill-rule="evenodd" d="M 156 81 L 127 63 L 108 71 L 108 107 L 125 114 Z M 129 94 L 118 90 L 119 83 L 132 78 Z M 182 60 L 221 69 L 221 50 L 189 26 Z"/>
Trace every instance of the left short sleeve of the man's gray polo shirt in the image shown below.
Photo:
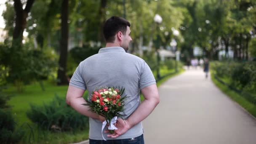
<path fill-rule="evenodd" d="M 73 76 L 71 77 L 71 80 L 69 82 L 69 85 L 72 85 L 76 88 L 81 88 L 83 90 L 86 90 L 85 81 L 82 76 L 82 68 L 81 64 L 78 65 L 77 69 L 75 70 Z"/>

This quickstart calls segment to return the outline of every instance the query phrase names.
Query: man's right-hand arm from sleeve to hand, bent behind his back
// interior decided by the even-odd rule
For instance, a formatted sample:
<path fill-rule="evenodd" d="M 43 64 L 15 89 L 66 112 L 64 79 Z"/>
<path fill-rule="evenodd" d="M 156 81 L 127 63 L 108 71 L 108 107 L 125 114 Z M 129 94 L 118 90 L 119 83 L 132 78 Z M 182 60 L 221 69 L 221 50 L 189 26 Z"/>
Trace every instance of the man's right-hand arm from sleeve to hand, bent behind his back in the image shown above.
<path fill-rule="evenodd" d="M 122 135 L 134 125 L 144 120 L 160 102 L 156 84 L 149 85 L 146 88 L 141 89 L 141 93 L 145 98 L 144 101 L 141 102 L 139 107 L 133 112 L 130 117 L 128 117 L 127 120 L 122 120 L 119 118 L 116 123 L 118 129 L 115 130 L 114 134 L 109 134 L 108 136 L 116 138 Z"/>

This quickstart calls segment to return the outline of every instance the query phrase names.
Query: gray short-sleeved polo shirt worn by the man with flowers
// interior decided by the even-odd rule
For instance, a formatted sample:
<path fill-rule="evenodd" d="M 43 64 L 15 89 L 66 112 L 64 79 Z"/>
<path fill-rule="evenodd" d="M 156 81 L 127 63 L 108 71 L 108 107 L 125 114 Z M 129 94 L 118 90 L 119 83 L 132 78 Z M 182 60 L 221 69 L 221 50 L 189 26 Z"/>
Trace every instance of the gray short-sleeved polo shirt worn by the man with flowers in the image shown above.
<path fill-rule="evenodd" d="M 108 47 L 101 48 L 99 53 L 82 61 L 75 70 L 69 85 L 88 90 L 89 94 L 99 86 L 124 87 L 123 95 L 129 96 L 125 99 L 126 117 L 124 119 L 127 119 L 141 103 L 140 90 L 155 83 L 155 77 L 143 59 L 125 53 L 121 47 Z M 93 118 L 89 119 L 89 138 L 103 140 L 102 123 Z M 130 139 L 141 134 L 143 134 L 142 123 L 138 123 L 116 139 Z M 104 138 L 112 139 L 105 133 Z"/>

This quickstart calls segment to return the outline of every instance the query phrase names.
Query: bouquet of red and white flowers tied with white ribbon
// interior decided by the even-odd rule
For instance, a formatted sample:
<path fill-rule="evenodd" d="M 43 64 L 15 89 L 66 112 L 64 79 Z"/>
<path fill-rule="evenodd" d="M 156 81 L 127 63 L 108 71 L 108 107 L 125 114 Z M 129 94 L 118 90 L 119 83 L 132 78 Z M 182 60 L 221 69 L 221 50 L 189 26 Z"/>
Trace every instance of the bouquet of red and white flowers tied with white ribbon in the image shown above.
<path fill-rule="evenodd" d="M 103 117 L 106 121 L 103 122 L 102 130 L 106 124 L 109 125 L 109 132 L 113 133 L 115 129 L 115 123 L 117 117 L 123 117 L 121 112 L 124 112 L 124 100 L 127 96 L 122 96 L 125 88 L 103 87 L 96 88 L 88 100 L 85 106 L 90 107 L 90 111 L 95 112 Z"/>

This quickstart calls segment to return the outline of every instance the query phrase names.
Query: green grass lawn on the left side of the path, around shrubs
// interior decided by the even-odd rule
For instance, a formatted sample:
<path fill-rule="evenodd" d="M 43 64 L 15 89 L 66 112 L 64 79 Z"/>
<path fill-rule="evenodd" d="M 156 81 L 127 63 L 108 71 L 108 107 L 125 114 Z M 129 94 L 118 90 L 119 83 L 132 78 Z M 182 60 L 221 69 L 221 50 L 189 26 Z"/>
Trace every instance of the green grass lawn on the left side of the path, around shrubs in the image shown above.
<path fill-rule="evenodd" d="M 179 73 L 183 71 L 184 70 L 181 70 Z M 174 69 L 168 70 L 166 67 L 163 67 L 163 69 L 160 69 L 160 72 L 163 76 L 165 74 L 174 72 Z M 165 80 L 173 77 L 174 75 L 178 75 L 179 73 L 163 78 L 157 82 L 157 85 L 159 86 Z M 37 82 L 26 85 L 24 91 L 21 93 L 18 93 L 16 88 L 13 86 L 9 86 L 8 89 L 4 91 L 5 93 L 12 95 L 10 101 L 8 101 L 8 104 L 12 107 L 12 112 L 14 119 L 17 122 L 17 127 L 20 128 L 20 126 L 23 125 L 22 129 L 24 129 L 26 132 L 20 143 L 27 144 L 30 142 L 36 144 L 68 144 L 88 139 L 88 130 L 62 133 L 40 131 L 40 129 L 27 118 L 26 112 L 28 109 L 30 109 L 30 104 L 42 105 L 43 103 L 48 103 L 53 100 L 55 95 L 62 98 L 66 97 L 68 85 L 57 86 L 50 81 L 44 81 L 43 84 L 45 91 L 41 89 L 40 84 Z M 87 91 L 85 91 L 84 96 L 86 95 L 88 95 Z"/>

